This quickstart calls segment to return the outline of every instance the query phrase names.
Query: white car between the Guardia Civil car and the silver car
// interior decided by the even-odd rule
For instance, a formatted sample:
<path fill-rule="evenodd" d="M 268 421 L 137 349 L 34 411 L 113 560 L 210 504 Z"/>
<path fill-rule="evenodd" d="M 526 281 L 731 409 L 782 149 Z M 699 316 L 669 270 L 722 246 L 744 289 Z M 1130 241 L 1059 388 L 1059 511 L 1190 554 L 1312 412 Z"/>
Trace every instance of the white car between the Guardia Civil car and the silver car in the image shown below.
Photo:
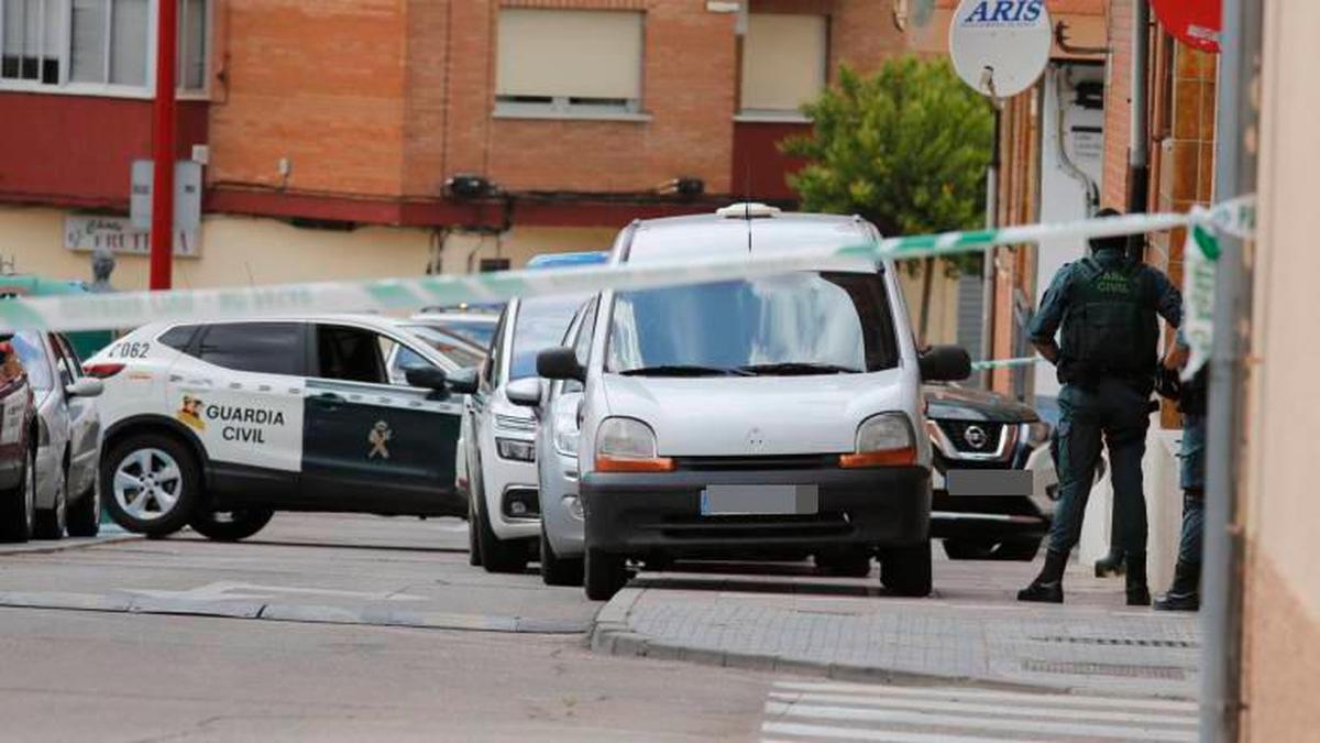
<path fill-rule="evenodd" d="M 466 398 L 461 432 L 469 492 L 470 561 L 490 572 L 520 572 L 541 534 L 536 418 L 512 403 L 510 382 L 536 377 L 536 353 L 564 337 L 585 296 L 515 299 L 500 315 L 491 354 Z M 461 485 L 459 485 L 461 487 Z"/>

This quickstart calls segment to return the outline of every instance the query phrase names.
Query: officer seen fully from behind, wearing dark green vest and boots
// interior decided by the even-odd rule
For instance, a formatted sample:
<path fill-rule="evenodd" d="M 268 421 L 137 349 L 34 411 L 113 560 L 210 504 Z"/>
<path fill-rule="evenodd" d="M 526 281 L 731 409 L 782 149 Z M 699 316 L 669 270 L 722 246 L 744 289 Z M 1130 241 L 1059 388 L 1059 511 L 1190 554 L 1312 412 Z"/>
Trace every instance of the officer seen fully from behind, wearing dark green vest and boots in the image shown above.
<path fill-rule="evenodd" d="M 1114 217 L 1105 209 L 1097 217 Z M 1055 275 L 1028 328 L 1031 342 L 1059 370 L 1059 504 L 1045 566 L 1018 592 L 1022 602 L 1063 603 L 1064 567 L 1081 534 L 1086 498 L 1109 447 L 1114 542 L 1127 558 L 1127 603 L 1150 606 L 1146 586 L 1146 497 L 1142 456 L 1148 401 L 1159 366 L 1159 320 L 1175 328 L 1183 297 L 1168 276 L 1126 255 L 1127 238 L 1096 238 L 1090 255 Z M 1061 327 L 1061 344 L 1055 332 Z"/>

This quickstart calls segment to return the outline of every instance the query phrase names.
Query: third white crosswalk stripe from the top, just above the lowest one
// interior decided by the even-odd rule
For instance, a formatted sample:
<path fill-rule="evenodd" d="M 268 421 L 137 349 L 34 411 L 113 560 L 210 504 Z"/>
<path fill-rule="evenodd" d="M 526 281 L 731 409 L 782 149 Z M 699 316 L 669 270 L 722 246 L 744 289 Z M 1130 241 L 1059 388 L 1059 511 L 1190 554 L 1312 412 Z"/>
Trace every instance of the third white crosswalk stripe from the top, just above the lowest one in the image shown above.
<path fill-rule="evenodd" d="M 847 722 L 887 722 L 898 724 L 964 727 L 964 728 L 973 728 L 977 731 L 1023 732 L 1024 727 L 1027 727 L 1030 728 L 1031 732 L 1045 732 L 1057 735 L 1088 735 L 1094 738 L 1118 738 L 1118 739 L 1139 738 L 1142 740 L 1196 739 L 1195 730 L 1168 730 L 1168 728 L 1156 730 L 1144 726 L 990 719 L 983 717 L 932 714 L 921 711 L 873 710 L 862 707 L 837 707 L 837 706 L 816 706 L 816 705 L 785 705 L 783 702 L 766 702 L 766 714 L 776 717 L 805 717 L 812 719 L 830 719 L 830 721 L 847 721 Z"/>

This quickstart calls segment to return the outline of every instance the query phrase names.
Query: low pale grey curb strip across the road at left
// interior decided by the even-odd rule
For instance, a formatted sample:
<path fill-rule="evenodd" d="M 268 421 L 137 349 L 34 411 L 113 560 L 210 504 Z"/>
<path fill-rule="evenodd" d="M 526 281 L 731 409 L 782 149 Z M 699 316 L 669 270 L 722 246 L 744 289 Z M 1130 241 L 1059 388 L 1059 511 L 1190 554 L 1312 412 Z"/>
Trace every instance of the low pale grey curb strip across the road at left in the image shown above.
<path fill-rule="evenodd" d="M 495 632 L 516 635 L 582 635 L 589 629 L 589 623 L 570 619 L 463 615 L 416 609 L 393 609 L 380 606 L 334 607 L 263 603 L 240 599 L 209 602 L 195 599 L 140 596 L 131 594 L 3 591 L 0 592 L 0 608 L 66 609 L 166 616 L 213 616 L 222 619 L 251 619 L 257 621 L 358 624 L 372 627 L 408 627 L 416 629 L 449 629 L 457 632 Z"/>

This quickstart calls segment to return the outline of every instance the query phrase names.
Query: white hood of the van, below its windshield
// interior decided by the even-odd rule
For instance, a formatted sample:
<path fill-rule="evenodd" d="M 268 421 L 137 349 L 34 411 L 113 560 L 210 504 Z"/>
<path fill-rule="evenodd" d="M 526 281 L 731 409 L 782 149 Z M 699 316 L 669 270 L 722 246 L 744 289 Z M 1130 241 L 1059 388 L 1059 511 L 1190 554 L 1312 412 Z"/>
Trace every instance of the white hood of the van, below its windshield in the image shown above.
<path fill-rule="evenodd" d="M 771 456 L 854 450 L 858 424 L 915 410 L 909 372 L 809 377 L 605 374 L 610 415 L 644 420 L 661 456 Z"/>

